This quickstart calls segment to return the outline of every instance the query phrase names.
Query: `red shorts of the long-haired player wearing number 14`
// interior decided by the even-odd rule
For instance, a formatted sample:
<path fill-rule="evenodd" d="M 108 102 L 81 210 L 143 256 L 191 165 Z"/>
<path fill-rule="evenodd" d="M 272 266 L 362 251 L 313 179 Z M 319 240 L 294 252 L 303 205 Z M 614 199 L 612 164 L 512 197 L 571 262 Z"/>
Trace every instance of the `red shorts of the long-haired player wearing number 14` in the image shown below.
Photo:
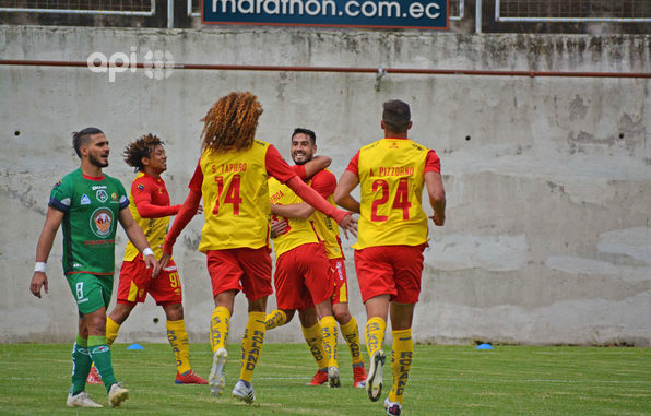
<path fill-rule="evenodd" d="M 249 300 L 271 295 L 269 252 L 268 247 L 209 250 L 208 273 L 213 285 L 213 298 L 226 290 L 241 290 Z"/>

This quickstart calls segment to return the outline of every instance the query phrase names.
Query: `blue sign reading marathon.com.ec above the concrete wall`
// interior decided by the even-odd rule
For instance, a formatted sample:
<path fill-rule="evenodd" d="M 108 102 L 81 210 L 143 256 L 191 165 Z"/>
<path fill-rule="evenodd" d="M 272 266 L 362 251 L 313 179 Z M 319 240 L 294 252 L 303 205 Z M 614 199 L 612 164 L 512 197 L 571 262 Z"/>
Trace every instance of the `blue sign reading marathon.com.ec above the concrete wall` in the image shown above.
<path fill-rule="evenodd" d="M 202 0 L 202 23 L 448 28 L 448 0 Z"/>

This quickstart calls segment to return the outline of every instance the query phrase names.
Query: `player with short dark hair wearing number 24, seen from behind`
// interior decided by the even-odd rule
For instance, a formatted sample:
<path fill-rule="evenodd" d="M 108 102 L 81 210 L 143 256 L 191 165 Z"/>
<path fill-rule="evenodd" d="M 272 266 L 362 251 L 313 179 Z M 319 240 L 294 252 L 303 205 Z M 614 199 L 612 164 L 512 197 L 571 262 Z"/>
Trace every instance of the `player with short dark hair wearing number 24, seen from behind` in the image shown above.
<path fill-rule="evenodd" d="M 446 193 L 438 155 L 410 139 L 410 107 L 401 100 L 383 105 L 384 139 L 368 144 L 341 176 L 334 200 L 360 213 L 355 269 L 367 323 L 364 331 L 370 357 L 366 389 L 371 401 L 382 391 L 382 348 L 390 311 L 393 385 L 384 401 L 389 415 L 400 415 L 412 364 L 412 320 L 421 293 L 427 215 L 421 205 L 424 186 L 437 226 L 446 221 Z M 351 197 L 360 185 L 362 200 Z"/>

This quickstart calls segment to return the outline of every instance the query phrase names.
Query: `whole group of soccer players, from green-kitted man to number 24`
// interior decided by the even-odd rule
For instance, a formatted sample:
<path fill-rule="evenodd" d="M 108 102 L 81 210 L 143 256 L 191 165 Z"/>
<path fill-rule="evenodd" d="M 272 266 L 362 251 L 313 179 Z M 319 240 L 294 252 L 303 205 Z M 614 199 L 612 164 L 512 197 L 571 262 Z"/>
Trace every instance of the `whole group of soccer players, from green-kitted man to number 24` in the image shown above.
<path fill-rule="evenodd" d="M 279 151 L 256 138 L 262 106 L 251 93 L 221 97 L 202 119 L 201 156 L 182 204 L 170 205 L 162 178 L 167 169 L 164 142 L 146 134 L 130 143 L 123 156 L 137 170 L 129 195 L 119 180 L 103 173 L 109 145 L 96 128 L 73 133 L 81 159 L 76 170 L 50 193 L 36 264 L 29 285 L 38 298 L 48 292 L 46 262 L 55 236 L 63 229 L 63 272 L 79 310 L 79 334 L 72 349 L 72 385 L 67 405 L 102 407 L 85 392 L 87 382 L 103 382 L 111 407 L 129 397 L 114 376 L 110 346 L 122 322 L 150 294 L 167 318 L 177 384 L 209 384 L 211 394 L 226 389 L 226 343 L 235 297 L 244 293 L 248 321 L 241 340 L 241 362 L 232 395 L 256 400 L 253 372 L 267 330 L 289 322 L 298 311 L 317 371 L 309 385 L 342 385 L 338 361 L 339 333 L 353 364 L 353 382 L 378 401 L 387 353 L 382 343 L 391 320 L 392 384 L 384 400 L 389 415 L 400 415 L 413 359 L 412 321 L 421 292 L 428 215 L 425 189 L 437 226 L 446 221 L 446 195 L 438 155 L 407 138 L 407 104 L 383 104 L 383 139 L 363 146 L 339 183 L 328 170 L 330 157 L 318 156 L 317 135 L 297 128 L 289 135 L 293 166 Z M 359 186 L 357 201 L 351 192 Z M 340 210 L 336 205 L 343 207 Z M 210 320 L 213 353 L 208 380 L 190 366 L 184 323 L 182 290 L 171 259 L 174 243 L 194 215 L 203 215 L 199 251 L 206 257 L 214 310 Z M 353 214 L 359 214 L 358 219 Z M 170 216 L 176 215 L 167 231 Z M 114 286 L 115 235 L 123 227 L 129 242 L 119 274 L 117 305 L 107 314 Z M 355 272 L 366 309 L 362 356 L 357 321 L 348 309 L 348 282 L 340 227 L 357 237 Z M 272 278 L 270 238 L 275 253 Z M 275 295 L 277 309 L 267 311 Z M 98 381 L 100 380 L 100 381 Z"/>

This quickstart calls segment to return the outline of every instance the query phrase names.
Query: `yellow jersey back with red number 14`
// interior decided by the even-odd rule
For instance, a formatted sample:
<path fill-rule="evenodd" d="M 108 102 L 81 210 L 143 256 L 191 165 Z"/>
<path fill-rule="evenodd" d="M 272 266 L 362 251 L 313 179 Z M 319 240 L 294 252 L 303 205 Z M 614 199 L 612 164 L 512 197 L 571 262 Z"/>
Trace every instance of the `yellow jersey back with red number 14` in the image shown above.
<path fill-rule="evenodd" d="M 201 156 L 205 224 L 199 251 L 269 246 L 268 147 L 256 140 L 246 151 Z"/>

